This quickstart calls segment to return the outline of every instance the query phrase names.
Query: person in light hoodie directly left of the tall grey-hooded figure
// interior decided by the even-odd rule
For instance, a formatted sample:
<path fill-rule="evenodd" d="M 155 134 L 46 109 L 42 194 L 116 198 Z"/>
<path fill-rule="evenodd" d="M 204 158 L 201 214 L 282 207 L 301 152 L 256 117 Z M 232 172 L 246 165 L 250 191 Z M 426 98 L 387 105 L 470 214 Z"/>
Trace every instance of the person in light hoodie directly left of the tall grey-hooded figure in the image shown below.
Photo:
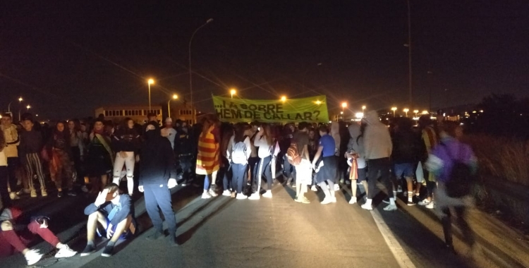
<path fill-rule="evenodd" d="M 351 172 L 349 172 L 349 179 L 353 181 L 358 181 L 359 183 L 362 183 L 364 185 L 366 194 L 369 192 L 369 189 L 367 187 L 367 174 L 366 174 L 366 167 L 367 164 L 365 163 L 365 153 L 364 153 L 364 138 L 363 138 L 363 126 L 365 126 L 365 123 L 360 124 L 353 123 L 351 126 L 348 127 L 349 135 L 351 138 L 349 139 L 348 145 L 347 145 L 347 152 L 345 154 L 345 157 L 347 159 L 347 164 L 351 166 Z M 353 196 L 351 197 L 351 200 L 349 200 L 349 204 L 355 204 L 357 202 L 356 199 L 356 183 L 351 181 L 351 193 Z"/>

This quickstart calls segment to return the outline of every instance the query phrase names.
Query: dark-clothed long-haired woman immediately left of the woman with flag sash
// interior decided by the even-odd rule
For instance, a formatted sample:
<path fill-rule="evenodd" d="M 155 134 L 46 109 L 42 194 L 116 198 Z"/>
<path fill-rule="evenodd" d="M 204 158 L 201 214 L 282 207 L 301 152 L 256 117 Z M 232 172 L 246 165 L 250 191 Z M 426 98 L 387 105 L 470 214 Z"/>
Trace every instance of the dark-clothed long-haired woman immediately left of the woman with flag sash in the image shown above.
<path fill-rule="evenodd" d="M 83 181 L 85 174 L 83 173 L 83 156 L 85 154 L 85 142 L 83 140 L 83 133 L 81 133 L 81 123 L 79 119 L 71 119 L 68 121 L 68 132 L 70 133 L 70 150 L 72 152 L 74 164 L 74 178 L 77 183 L 83 185 L 83 191 L 86 191 L 86 186 Z"/>

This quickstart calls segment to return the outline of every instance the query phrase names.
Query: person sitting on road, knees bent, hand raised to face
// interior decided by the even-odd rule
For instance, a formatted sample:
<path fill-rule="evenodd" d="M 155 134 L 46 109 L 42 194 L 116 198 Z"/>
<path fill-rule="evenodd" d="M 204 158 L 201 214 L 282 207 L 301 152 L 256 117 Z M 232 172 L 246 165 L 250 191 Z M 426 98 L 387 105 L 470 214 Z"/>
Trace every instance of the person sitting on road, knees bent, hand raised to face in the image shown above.
<path fill-rule="evenodd" d="M 112 255 L 114 245 L 122 234 L 128 234 L 133 222 L 130 203 L 130 195 L 121 194 L 115 183 L 110 183 L 99 192 L 95 202 L 85 208 L 85 214 L 88 216 L 87 243 L 85 250 L 81 252 L 81 257 L 90 255 L 96 250 L 94 237 L 97 223 L 107 231 L 107 238 L 110 239 L 101 255 L 103 257 Z"/>

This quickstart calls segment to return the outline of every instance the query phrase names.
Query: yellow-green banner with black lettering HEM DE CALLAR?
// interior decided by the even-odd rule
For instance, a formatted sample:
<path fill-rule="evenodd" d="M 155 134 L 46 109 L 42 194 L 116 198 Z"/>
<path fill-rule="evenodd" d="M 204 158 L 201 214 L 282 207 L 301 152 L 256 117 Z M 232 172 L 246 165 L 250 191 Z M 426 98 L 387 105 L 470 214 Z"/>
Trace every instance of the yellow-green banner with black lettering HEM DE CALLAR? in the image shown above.
<path fill-rule="evenodd" d="M 213 96 L 217 116 L 222 122 L 288 123 L 329 122 L 324 95 L 303 99 L 231 99 Z"/>

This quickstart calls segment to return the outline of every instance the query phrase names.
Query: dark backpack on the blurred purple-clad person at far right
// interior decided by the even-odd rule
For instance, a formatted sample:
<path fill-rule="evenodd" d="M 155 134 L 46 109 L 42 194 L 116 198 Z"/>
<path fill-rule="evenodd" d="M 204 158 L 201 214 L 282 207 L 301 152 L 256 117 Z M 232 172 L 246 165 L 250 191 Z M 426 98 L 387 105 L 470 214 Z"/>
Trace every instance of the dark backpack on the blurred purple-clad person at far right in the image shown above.
<path fill-rule="evenodd" d="M 452 170 L 450 171 L 444 185 L 446 188 L 446 195 L 455 198 L 470 195 L 475 184 L 475 176 L 473 175 L 470 166 L 463 162 L 462 159 L 460 159 L 461 157 L 458 157 L 458 155 L 461 154 L 462 146 L 458 146 L 458 155 L 454 157 L 451 154 L 449 147 L 444 144 L 441 145 L 444 146 L 446 153 L 449 155 L 452 162 Z"/>

